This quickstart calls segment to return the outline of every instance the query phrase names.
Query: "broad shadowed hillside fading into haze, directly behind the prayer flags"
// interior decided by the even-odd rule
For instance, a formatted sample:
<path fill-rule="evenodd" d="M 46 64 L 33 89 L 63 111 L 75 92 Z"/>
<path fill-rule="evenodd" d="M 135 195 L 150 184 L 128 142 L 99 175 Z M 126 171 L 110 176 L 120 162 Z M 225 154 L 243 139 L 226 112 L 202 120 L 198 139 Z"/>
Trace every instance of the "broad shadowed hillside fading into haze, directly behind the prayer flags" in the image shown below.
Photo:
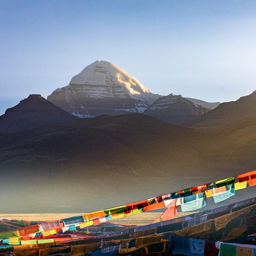
<path fill-rule="evenodd" d="M 131 114 L 0 134 L 2 211 L 90 212 L 249 171 L 255 128 L 256 118 L 210 132 Z"/>

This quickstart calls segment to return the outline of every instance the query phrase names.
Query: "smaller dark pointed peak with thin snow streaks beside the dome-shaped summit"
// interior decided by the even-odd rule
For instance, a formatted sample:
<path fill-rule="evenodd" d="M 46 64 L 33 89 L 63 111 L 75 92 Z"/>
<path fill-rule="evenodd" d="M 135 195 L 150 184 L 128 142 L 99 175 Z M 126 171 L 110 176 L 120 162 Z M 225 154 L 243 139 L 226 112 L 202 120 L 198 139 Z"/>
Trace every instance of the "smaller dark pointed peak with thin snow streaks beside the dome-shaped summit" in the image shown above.
<path fill-rule="evenodd" d="M 203 108 L 201 105 L 181 97 L 181 95 L 171 93 L 157 99 L 143 113 L 171 124 L 183 124 L 199 118 L 207 111 L 209 109 Z"/>

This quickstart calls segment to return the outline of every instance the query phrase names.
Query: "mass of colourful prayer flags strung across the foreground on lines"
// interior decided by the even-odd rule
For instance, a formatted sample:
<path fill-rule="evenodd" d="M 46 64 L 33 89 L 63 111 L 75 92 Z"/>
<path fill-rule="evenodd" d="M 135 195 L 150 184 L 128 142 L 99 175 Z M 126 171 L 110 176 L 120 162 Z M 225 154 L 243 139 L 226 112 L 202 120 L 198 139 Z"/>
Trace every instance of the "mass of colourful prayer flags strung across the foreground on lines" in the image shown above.
<path fill-rule="evenodd" d="M 253 185 L 256 185 L 256 170 L 62 220 L 30 222 L 1 218 L 0 253 L 14 256 L 159 253 L 162 256 L 253 256 L 256 255 L 253 247 L 247 249 L 249 254 L 243 254 L 246 250 L 237 248 L 256 241 L 256 197 L 176 218 L 178 205 L 182 212 L 196 211 L 206 206 L 207 197 L 213 197 L 214 202 L 219 203 L 234 196 L 236 190 Z M 149 225 L 135 227 L 112 222 L 117 218 L 161 208 L 167 209 Z M 239 240 L 240 237 L 245 240 Z M 224 243 L 218 248 L 214 241 Z M 237 247 L 236 250 L 227 249 L 231 247 L 226 242 L 236 243 L 232 245 Z M 228 250 L 234 253 L 230 254 Z"/>

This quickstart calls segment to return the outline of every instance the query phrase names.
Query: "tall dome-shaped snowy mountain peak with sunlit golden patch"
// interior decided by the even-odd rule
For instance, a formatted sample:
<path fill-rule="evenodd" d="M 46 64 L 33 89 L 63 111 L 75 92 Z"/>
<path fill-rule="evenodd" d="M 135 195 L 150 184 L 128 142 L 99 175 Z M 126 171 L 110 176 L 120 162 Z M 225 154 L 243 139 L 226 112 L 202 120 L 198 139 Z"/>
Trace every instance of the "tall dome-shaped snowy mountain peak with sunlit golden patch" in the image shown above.
<path fill-rule="evenodd" d="M 160 97 L 122 68 L 95 61 L 47 100 L 79 117 L 142 113 Z"/>

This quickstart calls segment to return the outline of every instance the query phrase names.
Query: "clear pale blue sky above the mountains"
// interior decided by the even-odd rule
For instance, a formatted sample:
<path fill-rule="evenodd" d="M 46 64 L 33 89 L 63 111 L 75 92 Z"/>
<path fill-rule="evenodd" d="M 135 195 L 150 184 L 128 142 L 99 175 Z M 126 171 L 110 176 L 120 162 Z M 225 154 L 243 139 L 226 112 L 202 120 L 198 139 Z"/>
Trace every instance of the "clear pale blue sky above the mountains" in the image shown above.
<path fill-rule="evenodd" d="M 256 1 L 0 1 L 0 114 L 95 60 L 151 92 L 230 101 L 256 89 Z"/>

